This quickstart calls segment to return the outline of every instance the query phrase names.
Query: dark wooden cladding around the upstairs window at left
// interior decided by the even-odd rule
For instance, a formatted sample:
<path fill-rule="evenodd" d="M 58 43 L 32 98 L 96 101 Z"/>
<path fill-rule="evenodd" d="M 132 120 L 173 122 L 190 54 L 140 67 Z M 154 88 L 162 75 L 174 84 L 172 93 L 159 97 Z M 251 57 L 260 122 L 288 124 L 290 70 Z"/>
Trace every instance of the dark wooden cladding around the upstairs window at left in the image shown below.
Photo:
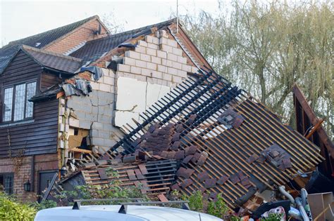
<path fill-rule="evenodd" d="M 3 88 L 32 80 L 37 82 L 37 94 L 61 82 L 56 75 L 42 73 L 42 67 L 35 60 L 19 51 L 0 75 L 0 126 L 6 124 L 2 122 Z M 25 155 L 56 152 L 58 100 L 35 103 L 32 119 L 30 123 L 23 121 L 20 125 L 0 128 L 0 158 L 8 157 L 10 150 L 15 154 L 19 149 L 24 149 Z"/>

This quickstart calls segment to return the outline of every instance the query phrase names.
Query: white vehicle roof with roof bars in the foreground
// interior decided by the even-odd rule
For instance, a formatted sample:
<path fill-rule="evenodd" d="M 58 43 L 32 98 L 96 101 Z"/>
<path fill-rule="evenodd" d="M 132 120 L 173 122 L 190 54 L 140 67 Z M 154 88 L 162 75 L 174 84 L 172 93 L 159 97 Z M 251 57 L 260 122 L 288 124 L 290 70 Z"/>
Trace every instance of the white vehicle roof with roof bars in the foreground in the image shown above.
<path fill-rule="evenodd" d="M 35 221 L 222 221 L 218 217 L 192 210 L 135 204 L 80 206 L 80 203 L 75 203 L 73 207 L 40 210 Z"/>

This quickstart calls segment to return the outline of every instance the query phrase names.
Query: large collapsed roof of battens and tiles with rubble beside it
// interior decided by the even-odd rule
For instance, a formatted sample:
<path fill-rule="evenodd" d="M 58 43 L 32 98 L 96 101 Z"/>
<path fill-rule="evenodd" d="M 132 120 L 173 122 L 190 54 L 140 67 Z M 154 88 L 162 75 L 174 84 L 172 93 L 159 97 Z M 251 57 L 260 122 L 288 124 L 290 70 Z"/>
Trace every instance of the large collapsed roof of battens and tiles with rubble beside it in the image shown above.
<path fill-rule="evenodd" d="M 112 169 L 150 196 L 201 191 L 214 201 L 221 194 L 237 215 L 304 217 L 305 194 L 300 204 L 282 186 L 302 183 L 323 160 L 319 148 L 226 79 L 203 70 L 140 118 L 109 151 L 77 168 L 86 183 L 108 185 Z"/>

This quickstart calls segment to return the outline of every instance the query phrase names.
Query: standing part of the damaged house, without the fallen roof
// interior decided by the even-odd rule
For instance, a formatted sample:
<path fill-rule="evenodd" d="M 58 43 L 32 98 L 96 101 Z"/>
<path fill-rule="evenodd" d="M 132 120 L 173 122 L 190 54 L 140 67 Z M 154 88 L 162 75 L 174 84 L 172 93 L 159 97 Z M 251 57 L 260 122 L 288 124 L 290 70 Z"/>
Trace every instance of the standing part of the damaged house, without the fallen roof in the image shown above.
<path fill-rule="evenodd" d="M 123 136 L 120 126 L 139 121 L 171 88 L 209 67 L 176 25 L 173 19 L 109 34 L 93 16 L 1 48 L 5 192 L 35 201 L 55 173 L 106 152 Z"/>

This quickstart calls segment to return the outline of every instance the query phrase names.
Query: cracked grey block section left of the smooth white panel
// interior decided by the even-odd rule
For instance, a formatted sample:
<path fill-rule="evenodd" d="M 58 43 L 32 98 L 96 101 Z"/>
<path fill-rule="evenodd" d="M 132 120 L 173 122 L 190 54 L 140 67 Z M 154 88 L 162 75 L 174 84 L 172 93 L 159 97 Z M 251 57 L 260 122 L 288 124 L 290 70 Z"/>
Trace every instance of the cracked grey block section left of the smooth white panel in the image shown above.
<path fill-rule="evenodd" d="M 135 62 L 130 58 L 125 59 L 128 59 L 128 62 Z M 123 67 L 127 68 L 126 65 Z M 130 66 L 128 68 L 130 69 Z M 66 105 L 60 107 L 61 114 L 66 111 L 73 113 L 68 117 L 68 123 L 64 123 L 64 126 L 61 125 L 61 130 L 65 130 L 66 126 L 89 130 L 91 145 L 100 152 L 109 149 L 116 143 L 114 133 L 115 131 L 119 132 L 119 129 L 113 126 L 116 74 L 111 69 L 102 70 L 104 76 L 99 81 L 91 79 L 92 92 L 89 95 L 70 96 L 66 100 Z"/>

